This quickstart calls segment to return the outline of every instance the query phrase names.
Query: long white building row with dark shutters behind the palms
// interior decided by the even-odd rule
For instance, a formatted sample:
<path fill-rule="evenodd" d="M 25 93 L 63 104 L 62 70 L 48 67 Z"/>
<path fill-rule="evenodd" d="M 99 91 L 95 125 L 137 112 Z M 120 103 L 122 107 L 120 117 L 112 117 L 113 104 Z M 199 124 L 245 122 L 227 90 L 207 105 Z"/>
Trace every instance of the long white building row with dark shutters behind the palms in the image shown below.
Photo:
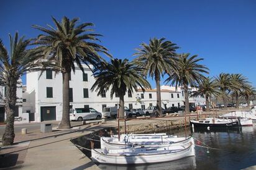
<path fill-rule="evenodd" d="M 85 67 L 85 74 L 76 67 L 75 74 L 70 77 L 70 108 L 94 108 L 99 112 L 109 106 L 117 106 L 118 96 L 110 97 L 110 91 L 103 96 L 97 96 L 91 91 L 95 82 L 91 70 Z M 184 105 L 182 90 L 175 91 L 173 87 L 162 86 L 162 107 Z M 27 74 L 26 90 L 23 93 L 23 112 L 30 113 L 30 121 L 50 121 L 62 119 L 62 74 L 56 74 L 50 70 L 43 72 L 30 72 Z M 137 92 L 127 91 L 124 96 L 127 108 L 148 108 L 157 104 L 156 90 L 142 90 Z M 191 103 L 195 103 L 191 98 Z M 201 103 L 200 103 L 201 104 Z"/>

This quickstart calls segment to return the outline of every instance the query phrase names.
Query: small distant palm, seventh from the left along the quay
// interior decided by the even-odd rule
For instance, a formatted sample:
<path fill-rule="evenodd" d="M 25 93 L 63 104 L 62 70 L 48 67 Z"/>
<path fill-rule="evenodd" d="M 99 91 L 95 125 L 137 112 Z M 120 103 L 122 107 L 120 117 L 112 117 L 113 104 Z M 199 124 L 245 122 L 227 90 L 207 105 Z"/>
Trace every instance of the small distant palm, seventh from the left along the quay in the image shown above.
<path fill-rule="evenodd" d="M 219 86 L 219 90 L 221 90 L 221 98 L 223 100 L 224 108 L 227 108 L 227 98 L 228 94 L 231 91 L 232 87 L 232 81 L 231 81 L 231 75 L 226 73 L 221 73 L 217 77 L 214 77 L 217 85 Z"/>

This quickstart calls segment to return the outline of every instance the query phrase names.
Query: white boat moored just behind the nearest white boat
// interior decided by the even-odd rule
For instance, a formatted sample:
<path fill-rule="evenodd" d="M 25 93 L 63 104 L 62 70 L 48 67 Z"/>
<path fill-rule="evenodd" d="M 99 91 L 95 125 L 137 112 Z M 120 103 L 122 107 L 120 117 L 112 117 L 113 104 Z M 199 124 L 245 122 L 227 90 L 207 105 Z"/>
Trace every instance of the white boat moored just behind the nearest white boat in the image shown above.
<path fill-rule="evenodd" d="M 132 147 L 166 147 L 169 145 L 186 145 L 187 143 L 194 143 L 193 137 L 167 137 L 167 138 L 127 138 L 118 140 L 118 138 L 101 137 L 101 148 L 106 149 L 125 149 Z"/>

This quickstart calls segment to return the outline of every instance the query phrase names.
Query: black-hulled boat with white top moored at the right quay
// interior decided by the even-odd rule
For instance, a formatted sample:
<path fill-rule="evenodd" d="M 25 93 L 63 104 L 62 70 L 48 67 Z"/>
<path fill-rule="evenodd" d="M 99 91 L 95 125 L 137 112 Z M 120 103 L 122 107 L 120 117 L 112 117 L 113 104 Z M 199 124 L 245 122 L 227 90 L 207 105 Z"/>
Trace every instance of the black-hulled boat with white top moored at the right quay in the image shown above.
<path fill-rule="evenodd" d="M 224 121 L 222 119 L 216 119 L 216 118 L 206 118 L 204 120 L 199 121 L 190 121 L 191 127 L 209 127 L 216 128 L 216 127 L 222 127 L 222 128 L 234 128 L 239 127 L 239 122 L 234 121 Z"/>

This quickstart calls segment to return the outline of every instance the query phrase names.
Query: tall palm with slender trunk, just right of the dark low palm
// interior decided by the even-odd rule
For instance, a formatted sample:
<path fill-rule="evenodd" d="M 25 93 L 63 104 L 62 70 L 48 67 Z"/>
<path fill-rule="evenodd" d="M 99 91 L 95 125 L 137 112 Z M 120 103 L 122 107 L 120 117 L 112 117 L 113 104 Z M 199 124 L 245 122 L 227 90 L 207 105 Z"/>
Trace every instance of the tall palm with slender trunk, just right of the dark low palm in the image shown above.
<path fill-rule="evenodd" d="M 136 49 L 137 56 L 134 61 L 138 62 L 142 68 L 145 68 L 144 74 L 149 74 L 150 77 L 155 77 L 157 86 L 157 113 L 159 116 L 162 114 L 161 106 L 161 92 L 160 92 L 160 75 L 170 73 L 176 57 L 176 49 L 178 46 L 171 41 L 165 41 L 165 38 L 150 39 L 149 45 L 142 43 L 141 48 Z"/>

